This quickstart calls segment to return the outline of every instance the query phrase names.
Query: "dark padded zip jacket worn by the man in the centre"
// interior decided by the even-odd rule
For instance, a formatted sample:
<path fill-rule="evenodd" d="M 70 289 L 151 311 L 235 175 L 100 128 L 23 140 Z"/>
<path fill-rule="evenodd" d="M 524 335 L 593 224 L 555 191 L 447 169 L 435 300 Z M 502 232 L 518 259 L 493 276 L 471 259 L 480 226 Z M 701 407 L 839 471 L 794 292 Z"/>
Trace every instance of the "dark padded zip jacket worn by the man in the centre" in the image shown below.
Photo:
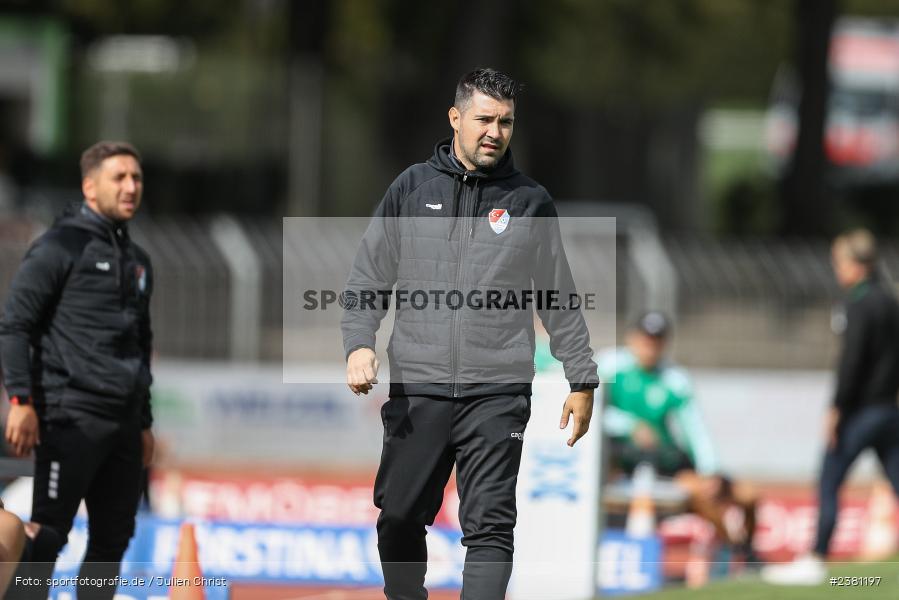
<path fill-rule="evenodd" d="M 391 395 L 471 397 L 531 393 L 533 309 L 488 310 L 464 303 L 450 310 L 447 293 L 517 295 L 553 290 L 560 302 L 576 292 L 549 193 L 522 175 L 507 152 L 487 173 L 465 171 L 437 144 L 427 163 L 413 165 L 387 190 L 356 254 L 346 294 L 392 294 L 396 307 L 388 346 Z M 501 218 L 500 218 L 501 217 Z M 415 294 L 442 294 L 426 308 Z M 407 294 L 406 302 L 400 302 Z M 381 297 L 380 295 L 378 296 Z M 387 308 L 347 303 L 344 350 L 375 347 Z M 457 303 L 458 306 L 458 303 Z M 502 305 L 504 308 L 506 304 Z M 590 335 L 581 310 L 537 310 L 553 356 L 572 390 L 596 387 Z"/>

